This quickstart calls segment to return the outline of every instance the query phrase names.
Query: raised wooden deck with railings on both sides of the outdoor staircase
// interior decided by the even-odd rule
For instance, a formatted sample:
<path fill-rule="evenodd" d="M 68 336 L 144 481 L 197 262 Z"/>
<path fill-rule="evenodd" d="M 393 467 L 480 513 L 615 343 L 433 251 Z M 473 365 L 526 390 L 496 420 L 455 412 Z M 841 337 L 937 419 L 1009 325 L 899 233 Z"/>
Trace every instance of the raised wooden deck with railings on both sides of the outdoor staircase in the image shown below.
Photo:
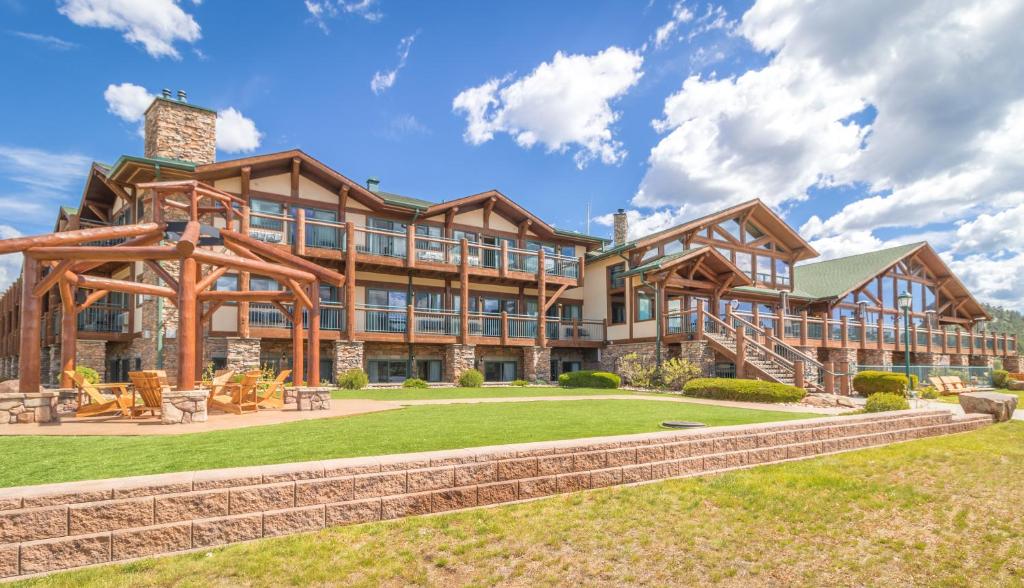
<path fill-rule="evenodd" d="M 729 312 L 727 318 L 734 327 L 745 326 L 753 332 L 757 326 L 795 347 L 820 347 L 836 349 L 880 349 L 903 351 L 906 333 L 902 325 L 883 322 L 865 324 L 843 318 L 757 314 Z M 666 339 L 691 340 L 701 332 L 697 312 L 685 310 L 665 317 Z M 753 333 L 749 333 L 753 334 Z M 995 332 L 968 332 L 910 326 L 909 350 L 912 353 L 943 353 L 967 355 L 1006 356 L 1018 353 L 1017 336 Z"/>

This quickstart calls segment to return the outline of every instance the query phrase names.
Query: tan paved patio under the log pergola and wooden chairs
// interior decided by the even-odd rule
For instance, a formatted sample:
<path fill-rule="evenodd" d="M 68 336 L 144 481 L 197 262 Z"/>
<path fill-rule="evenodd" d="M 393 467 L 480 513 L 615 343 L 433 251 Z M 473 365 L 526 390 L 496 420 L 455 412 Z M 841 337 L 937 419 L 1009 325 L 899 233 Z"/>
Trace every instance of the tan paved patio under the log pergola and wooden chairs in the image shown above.
<path fill-rule="evenodd" d="M 221 412 L 210 414 L 205 423 L 187 425 L 165 425 L 158 418 L 125 419 L 123 417 L 65 417 L 56 424 L 0 425 L 2 435 L 179 435 L 255 427 L 280 425 L 313 419 L 348 417 L 380 411 L 400 409 L 401 405 L 382 401 L 331 401 L 331 409 L 326 411 L 297 411 L 294 406 L 283 410 L 259 411 L 244 415 Z"/>

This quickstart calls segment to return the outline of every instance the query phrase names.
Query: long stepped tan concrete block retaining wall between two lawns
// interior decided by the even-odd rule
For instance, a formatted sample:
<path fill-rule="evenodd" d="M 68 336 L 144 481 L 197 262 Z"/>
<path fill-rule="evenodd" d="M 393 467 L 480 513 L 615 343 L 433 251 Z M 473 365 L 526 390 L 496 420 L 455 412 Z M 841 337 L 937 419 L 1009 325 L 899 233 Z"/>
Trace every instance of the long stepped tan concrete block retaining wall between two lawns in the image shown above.
<path fill-rule="evenodd" d="M 894 412 L 0 490 L 0 578 L 977 429 Z"/>

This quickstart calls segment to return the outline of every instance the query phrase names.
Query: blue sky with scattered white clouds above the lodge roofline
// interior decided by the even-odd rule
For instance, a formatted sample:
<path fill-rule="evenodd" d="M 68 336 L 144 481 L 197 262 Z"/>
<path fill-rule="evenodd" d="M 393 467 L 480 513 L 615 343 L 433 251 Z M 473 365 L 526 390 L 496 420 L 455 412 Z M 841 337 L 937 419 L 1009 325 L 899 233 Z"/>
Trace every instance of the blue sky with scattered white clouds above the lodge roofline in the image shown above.
<path fill-rule="evenodd" d="M 599 235 L 760 197 L 824 256 L 927 239 L 1024 306 L 986 280 L 1024 275 L 1022 3 L 891 4 L 0 0 L 0 236 L 47 229 L 183 88 L 221 160 L 299 148 L 572 229 L 590 202 Z"/>

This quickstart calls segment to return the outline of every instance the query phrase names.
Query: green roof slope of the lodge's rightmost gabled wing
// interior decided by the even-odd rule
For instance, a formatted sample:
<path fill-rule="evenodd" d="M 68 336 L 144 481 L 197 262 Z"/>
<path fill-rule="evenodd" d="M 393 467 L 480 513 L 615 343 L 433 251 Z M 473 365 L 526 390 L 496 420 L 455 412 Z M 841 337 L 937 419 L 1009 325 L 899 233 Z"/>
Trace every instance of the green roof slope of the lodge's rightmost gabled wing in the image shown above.
<path fill-rule="evenodd" d="M 793 270 L 793 283 L 797 292 L 809 298 L 837 298 L 871 277 L 878 276 L 886 267 L 923 245 L 925 243 L 911 243 L 860 255 L 797 265 Z M 794 295 L 797 292 L 794 292 Z"/>

